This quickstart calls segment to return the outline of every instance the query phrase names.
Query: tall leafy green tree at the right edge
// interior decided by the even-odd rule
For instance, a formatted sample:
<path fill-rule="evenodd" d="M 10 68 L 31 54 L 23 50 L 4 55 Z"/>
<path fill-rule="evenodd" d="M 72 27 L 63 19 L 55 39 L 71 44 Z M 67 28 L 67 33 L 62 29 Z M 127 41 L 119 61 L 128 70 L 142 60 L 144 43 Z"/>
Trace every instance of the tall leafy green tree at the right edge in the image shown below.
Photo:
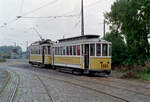
<path fill-rule="evenodd" d="M 110 34 L 125 38 L 128 54 L 125 61 L 144 65 L 150 56 L 150 0 L 117 0 L 105 18 L 111 25 Z"/>

